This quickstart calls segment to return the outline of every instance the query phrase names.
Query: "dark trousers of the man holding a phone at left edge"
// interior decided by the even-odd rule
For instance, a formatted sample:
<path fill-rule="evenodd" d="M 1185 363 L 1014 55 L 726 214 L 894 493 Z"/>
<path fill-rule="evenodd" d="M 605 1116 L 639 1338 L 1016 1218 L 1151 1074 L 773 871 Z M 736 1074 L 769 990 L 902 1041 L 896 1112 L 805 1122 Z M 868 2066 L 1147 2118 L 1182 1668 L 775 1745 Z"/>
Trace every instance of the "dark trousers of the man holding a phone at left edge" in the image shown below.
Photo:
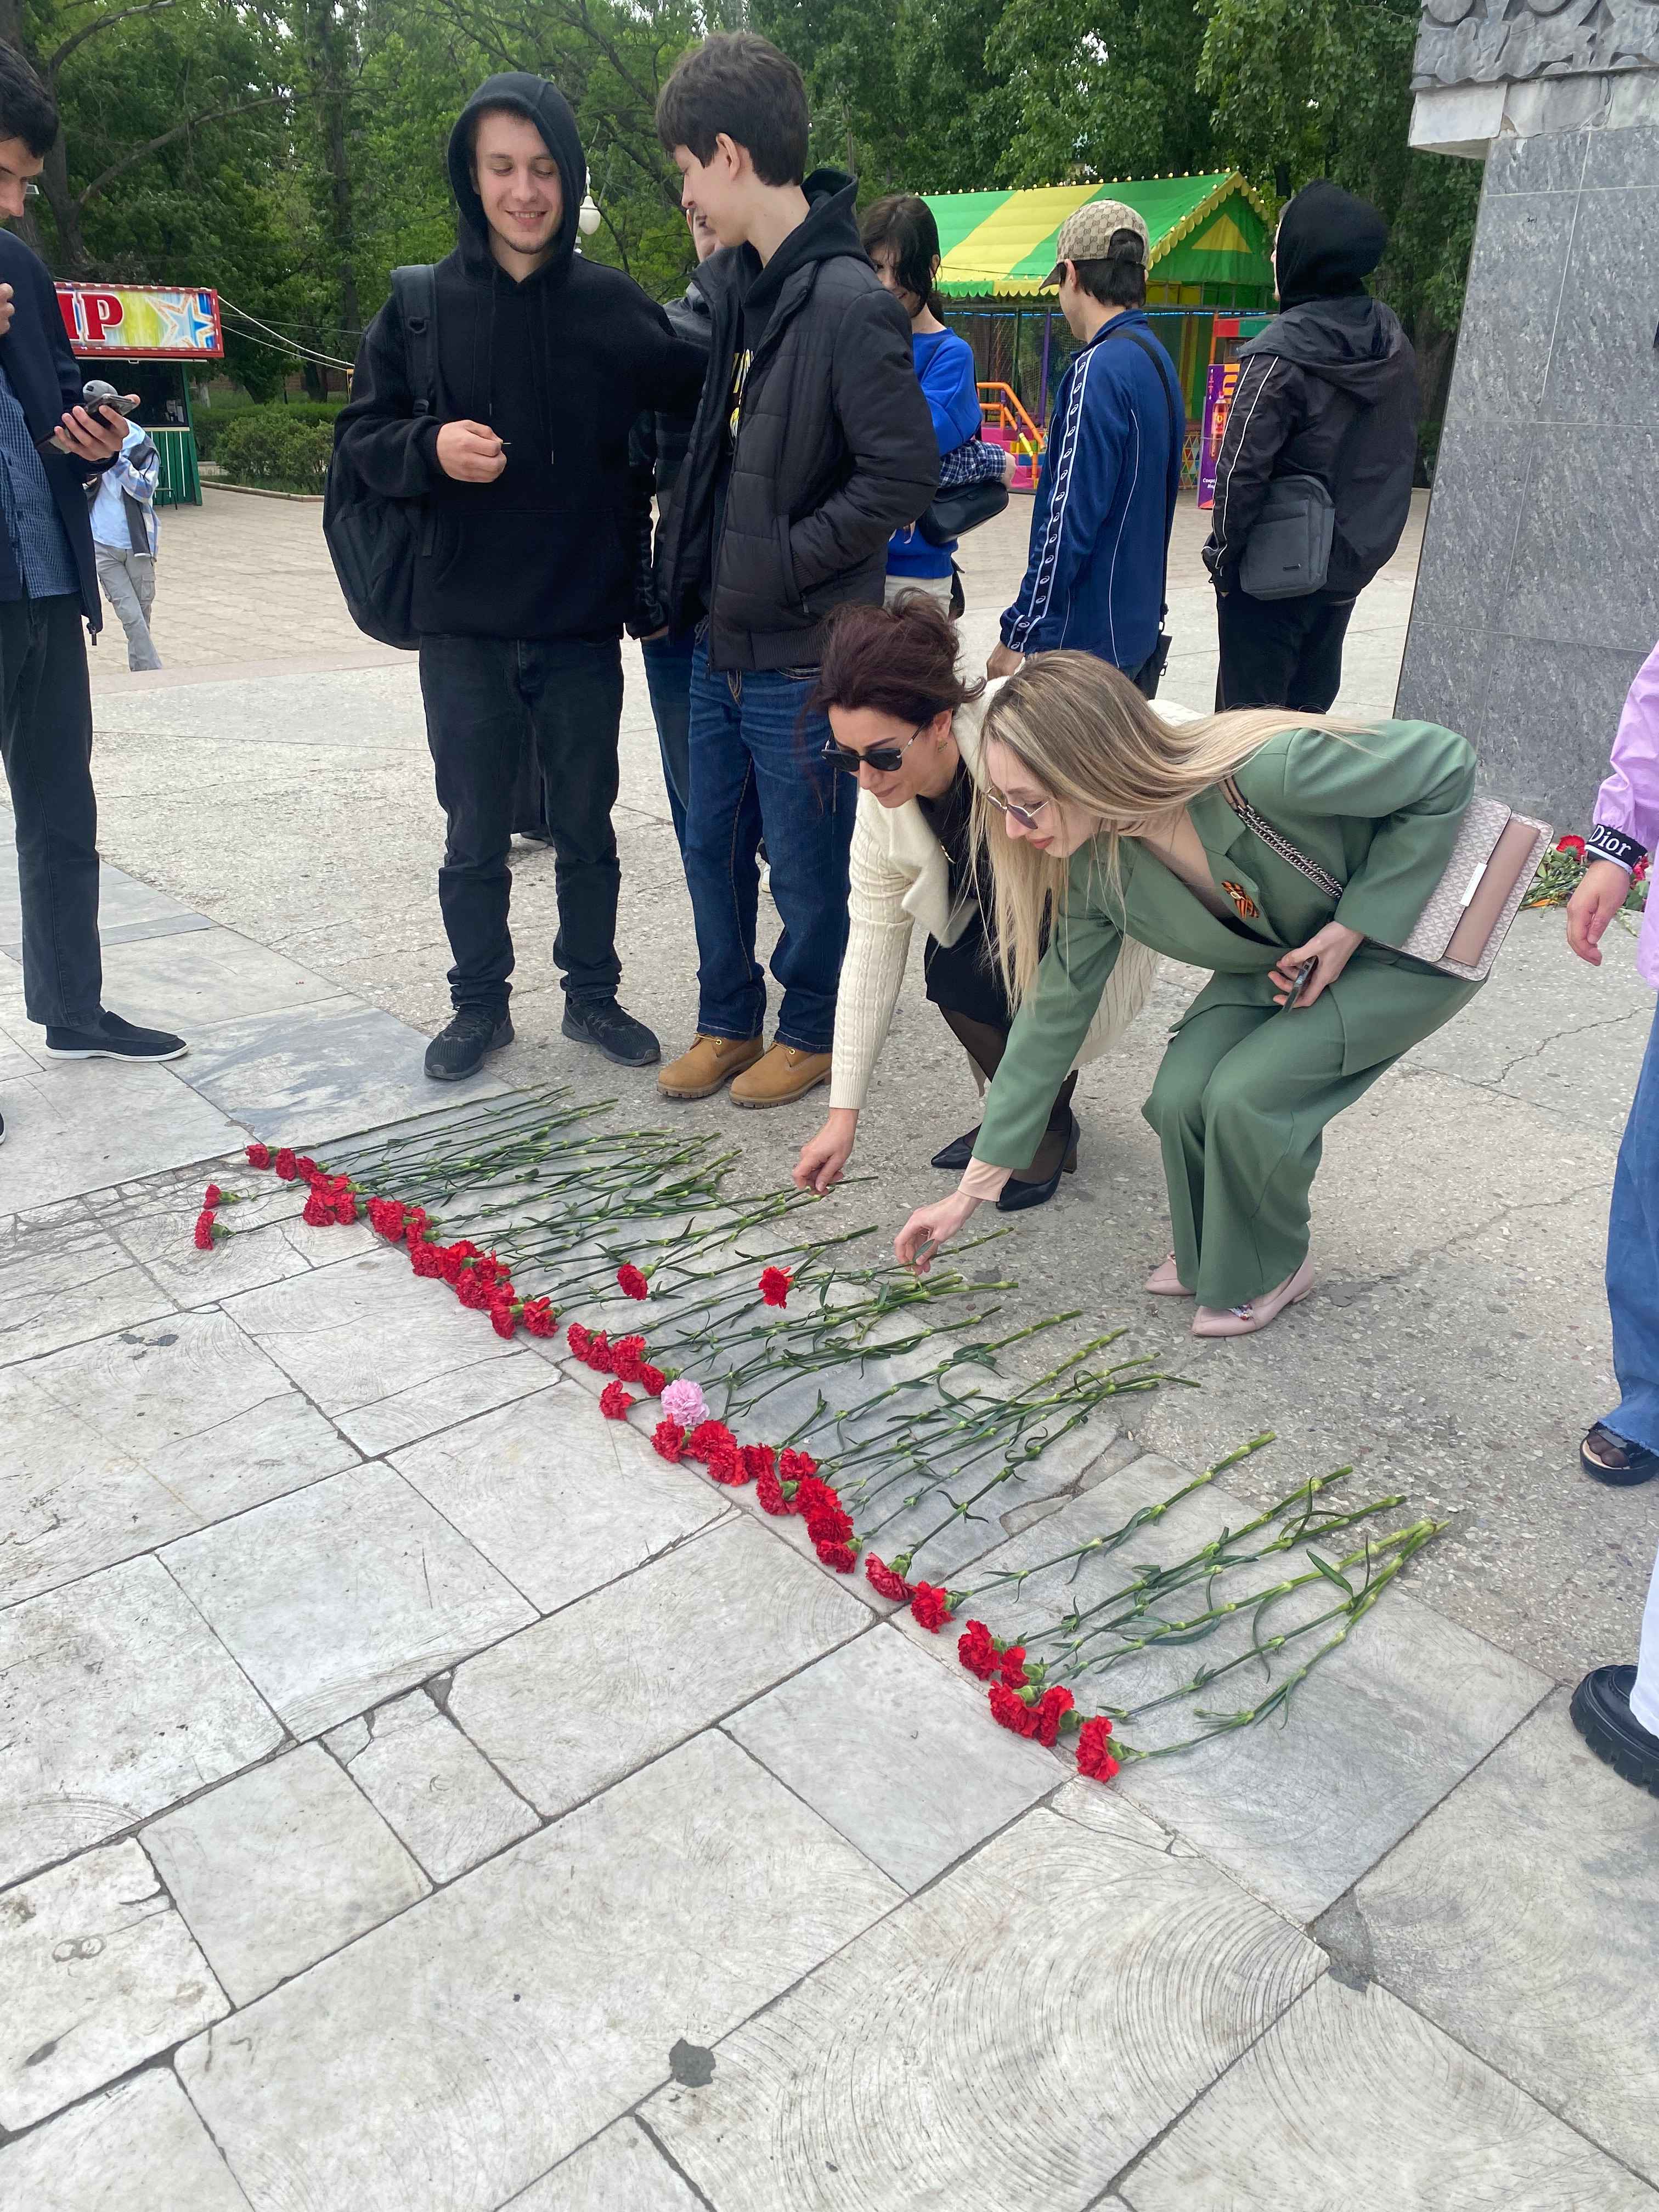
<path fill-rule="evenodd" d="M 46 1029 L 97 1029 L 93 701 L 77 595 L 0 602 L 0 754 L 18 825 L 22 1002 Z"/>

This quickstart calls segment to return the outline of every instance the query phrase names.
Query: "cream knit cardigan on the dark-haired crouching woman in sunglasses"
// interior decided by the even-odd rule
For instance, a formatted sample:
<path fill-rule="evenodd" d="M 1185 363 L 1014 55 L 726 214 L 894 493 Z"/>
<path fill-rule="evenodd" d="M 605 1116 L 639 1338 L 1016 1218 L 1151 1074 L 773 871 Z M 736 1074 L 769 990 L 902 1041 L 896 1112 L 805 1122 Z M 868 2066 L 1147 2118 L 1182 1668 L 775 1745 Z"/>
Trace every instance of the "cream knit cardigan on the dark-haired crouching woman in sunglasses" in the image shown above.
<path fill-rule="evenodd" d="M 960 708 L 951 734 L 962 765 L 980 779 L 980 723 L 998 686 Z M 1179 710 L 1177 710 L 1179 712 Z M 945 847 L 927 827 L 914 799 L 902 807 L 883 807 L 869 792 L 858 792 L 858 814 L 852 830 L 852 933 L 841 964 L 836 993 L 836 1046 L 830 1068 L 830 1106 L 860 1108 L 876 1073 L 880 1048 L 905 980 L 909 938 L 916 922 L 956 945 L 969 922 L 969 907 L 951 914 L 951 876 Z M 1099 1011 L 1077 1053 L 1077 1066 L 1095 1060 L 1128 1029 L 1146 1004 L 1157 975 L 1157 953 L 1144 945 L 1124 945 L 1117 967 L 1102 993 Z"/>

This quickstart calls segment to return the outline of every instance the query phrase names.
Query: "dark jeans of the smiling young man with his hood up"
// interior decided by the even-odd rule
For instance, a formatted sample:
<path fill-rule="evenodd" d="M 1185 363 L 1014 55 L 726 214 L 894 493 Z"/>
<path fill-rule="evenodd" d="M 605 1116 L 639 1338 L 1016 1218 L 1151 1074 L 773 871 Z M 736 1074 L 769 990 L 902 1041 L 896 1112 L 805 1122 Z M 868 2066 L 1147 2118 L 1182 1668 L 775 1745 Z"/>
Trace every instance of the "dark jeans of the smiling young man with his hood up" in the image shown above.
<path fill-rule="evenodd" d="M 507 1011 L 513 790 L 526 739 L 549 794 L 560 933 L 553 960 L 573 1000 L 615 998 L 617 730 L 622 646 L 551 637 L 422 637 L 420 697 L 449 821 L 438 869 L 456 1006 Z"/>

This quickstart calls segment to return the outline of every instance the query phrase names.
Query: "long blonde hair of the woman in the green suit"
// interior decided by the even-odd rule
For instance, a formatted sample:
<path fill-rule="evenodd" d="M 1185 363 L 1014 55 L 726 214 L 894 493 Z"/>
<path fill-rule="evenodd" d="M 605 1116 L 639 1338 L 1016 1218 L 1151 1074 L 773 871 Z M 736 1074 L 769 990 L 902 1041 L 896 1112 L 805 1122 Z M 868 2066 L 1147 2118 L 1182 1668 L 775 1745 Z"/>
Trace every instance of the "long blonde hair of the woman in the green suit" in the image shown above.
<path fill-rule="evenodd" d="M 1040 653 L 995 692 L 980 737 L 1000 739 L 1053 799 L 1099 816 L 1095 858 L 1108 900 L 1121 900 L 1121 838 L 1186 807 L 1281 730 L 1323 730 L 1352 741 L 1358 728 L 1285 708 L 1170 723 L 1093 653 Z M 1044 929 L 1060 914 L 1071 860 L 1009 836 L 1002 810 L 984 796 L 984 779 L 973 794 L 973 825 L 980 878 L 989 863 L 998 967 L 1018 1006 L 1037 973 Z M 982 880 L 982 902 L 984 889 Z"/>

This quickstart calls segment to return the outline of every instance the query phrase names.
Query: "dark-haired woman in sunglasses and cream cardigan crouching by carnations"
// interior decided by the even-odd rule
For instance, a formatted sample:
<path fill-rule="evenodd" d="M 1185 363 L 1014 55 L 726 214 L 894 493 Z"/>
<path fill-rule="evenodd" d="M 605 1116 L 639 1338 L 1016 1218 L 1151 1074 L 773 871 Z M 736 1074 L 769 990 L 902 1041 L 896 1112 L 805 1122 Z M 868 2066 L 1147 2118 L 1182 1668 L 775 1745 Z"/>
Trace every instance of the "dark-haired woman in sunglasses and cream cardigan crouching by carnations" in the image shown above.
<path fill-rule="evenodd" d="M 922 975 L 929 1000 L 969 1055 L 975 1082 L 995 1075 L 1013 1013 L 973 883 L 971 818 L 980 719 L 989 692 L 964 684 L 956 630 L 929 597 L 894 606 L 843 606 L 825 635 L 816 703 L 830 717 L 825 759 L 858 779 L 852 832 L 852 933 L 836 998 L 830 1117 L 794 1168 L 801 1190 L 830 1190 L 847 1166 L 869 1077 L 887 1040 L 905 980 L 911 929 L 927 931 Z M 1002 1212 L 1046 1203 L 1077 1166 L 1071 1093 L 1077 1066 L 1102 1053 L 1139 1013 L 1157 962 L 1139 947 L 1077 1051 L 1055 1073 L 1022 1159 L 995 1194 Z M 964 1168 L 978 1130 L 933 1155 Z"/>

